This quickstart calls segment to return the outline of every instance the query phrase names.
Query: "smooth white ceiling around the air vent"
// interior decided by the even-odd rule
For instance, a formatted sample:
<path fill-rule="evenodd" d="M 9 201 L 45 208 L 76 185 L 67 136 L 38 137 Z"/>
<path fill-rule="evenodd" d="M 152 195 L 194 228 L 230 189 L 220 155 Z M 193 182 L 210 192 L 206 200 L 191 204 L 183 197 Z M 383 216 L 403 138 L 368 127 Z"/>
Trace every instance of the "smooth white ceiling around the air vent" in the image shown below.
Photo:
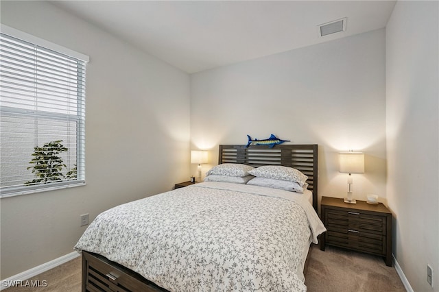
<path fill-rule="evenodd" d="M 396 1 L 51 1 L 195 73 L 385 27 Z M 318 25 L 347 17 L 346 32 Z"/>

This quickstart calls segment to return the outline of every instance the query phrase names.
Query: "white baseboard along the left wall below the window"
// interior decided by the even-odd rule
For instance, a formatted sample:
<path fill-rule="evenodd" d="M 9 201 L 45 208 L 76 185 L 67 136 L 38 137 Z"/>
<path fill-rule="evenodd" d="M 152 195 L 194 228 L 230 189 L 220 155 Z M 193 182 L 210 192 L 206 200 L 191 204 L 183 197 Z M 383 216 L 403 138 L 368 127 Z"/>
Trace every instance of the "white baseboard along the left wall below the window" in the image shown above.
<path fill-rule="evenodd" d="M 69 260 L 73 260 L 73 258 L 78 258 L 78 256 L 80 256 L 78 252 L 71 252 L 70 254 L 66 254 L 65 256 L 60 256 L 59 258 L 55 258 L 54 260 L 44 263 L 43 265 L 39 265 L 38 267 L 28 269 L 27 271 L 23 271 L 22 273 L 17 273 L 15 276 L 1 280 L 0 291 L 8 288 L 10 286 L 10 284 L 8 283 L 27 280 L 36 275 L 39 275 L 40 273 L 49 271 L 49 269 L 53 269 L 54 267 L 58 267 L 59 265 L 67 263 Z"/>

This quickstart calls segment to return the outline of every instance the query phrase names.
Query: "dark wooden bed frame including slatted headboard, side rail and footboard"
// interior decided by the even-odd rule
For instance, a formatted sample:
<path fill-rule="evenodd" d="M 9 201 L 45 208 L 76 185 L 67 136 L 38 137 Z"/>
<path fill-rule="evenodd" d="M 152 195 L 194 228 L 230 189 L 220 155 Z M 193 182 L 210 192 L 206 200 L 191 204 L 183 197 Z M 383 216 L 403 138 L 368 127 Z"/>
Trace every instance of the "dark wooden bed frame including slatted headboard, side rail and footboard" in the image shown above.
<path fill-rule="evenodd" d="M 313 207 L 317 212 L 318 199 L 317 145 L 267 146 L 219 145 L 219 164 L 242 163 L 259 167 L 283 165 L 294 167 L 308 176 L 313 191 Z M 309 249 L 311 251 L 311 249 Z M 306 275 L 308 258 L 303 273 Z M 91 252 L 82 252 L 82 291 L 167 291 L 118 263 Z"/>

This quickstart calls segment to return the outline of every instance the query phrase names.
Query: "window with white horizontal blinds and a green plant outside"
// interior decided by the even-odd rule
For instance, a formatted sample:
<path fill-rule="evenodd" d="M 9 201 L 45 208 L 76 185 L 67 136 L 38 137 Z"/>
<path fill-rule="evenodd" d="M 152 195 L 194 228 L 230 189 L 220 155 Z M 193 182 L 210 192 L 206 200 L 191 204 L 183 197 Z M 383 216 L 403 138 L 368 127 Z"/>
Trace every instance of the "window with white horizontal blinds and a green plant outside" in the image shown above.
<path fill-rule="evenodd" d="M 0 197 L 85 183 L 88 56 L 1 25 Z"/>

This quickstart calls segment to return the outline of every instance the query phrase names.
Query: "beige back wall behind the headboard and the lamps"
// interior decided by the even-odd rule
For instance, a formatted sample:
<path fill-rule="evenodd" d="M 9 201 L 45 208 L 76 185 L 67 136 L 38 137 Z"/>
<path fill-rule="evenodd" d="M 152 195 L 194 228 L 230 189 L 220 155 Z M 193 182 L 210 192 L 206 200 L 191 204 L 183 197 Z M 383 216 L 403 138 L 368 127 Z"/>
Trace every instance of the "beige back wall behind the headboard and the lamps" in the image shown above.
<path fill-rule="evenodd" d="M 355 197 L 384 200 L 384 29 L 191 75 L 191 143 L 213 149 L 213 163 L 218 144 L 271 133 L 318 144 L 320 197 L 346 196 L 338 152 L 364 151 Z"/>

